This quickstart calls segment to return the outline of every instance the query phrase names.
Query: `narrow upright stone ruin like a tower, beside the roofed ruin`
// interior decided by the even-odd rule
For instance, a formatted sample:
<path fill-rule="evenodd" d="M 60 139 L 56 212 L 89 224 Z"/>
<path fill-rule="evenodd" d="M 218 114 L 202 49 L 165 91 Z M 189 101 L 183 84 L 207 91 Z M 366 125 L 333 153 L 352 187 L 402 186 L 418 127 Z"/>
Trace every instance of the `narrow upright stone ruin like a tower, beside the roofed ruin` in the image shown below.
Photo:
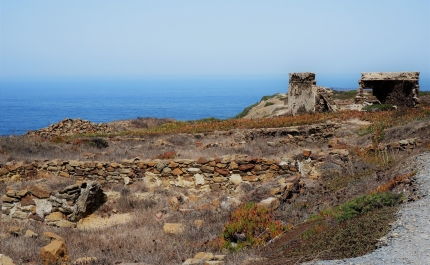
<path fill-rule="evenodd" d="M 292 115 L 336 111 L 333 91 L 316 85 L 315 73 L 290 73 L 288 109 Z"/>

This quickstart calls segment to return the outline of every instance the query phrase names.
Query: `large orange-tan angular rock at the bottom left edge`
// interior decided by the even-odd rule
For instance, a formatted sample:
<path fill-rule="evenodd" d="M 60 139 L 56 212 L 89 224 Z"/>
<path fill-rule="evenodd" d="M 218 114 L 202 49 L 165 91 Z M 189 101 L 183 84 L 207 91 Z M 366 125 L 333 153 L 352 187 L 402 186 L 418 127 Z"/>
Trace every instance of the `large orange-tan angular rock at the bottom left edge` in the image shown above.
<path fill-rule="evenodd" d="M 70 257 L 64 240 L 54 240 L 40 249 L 43 265 L 69 265 Z"/>

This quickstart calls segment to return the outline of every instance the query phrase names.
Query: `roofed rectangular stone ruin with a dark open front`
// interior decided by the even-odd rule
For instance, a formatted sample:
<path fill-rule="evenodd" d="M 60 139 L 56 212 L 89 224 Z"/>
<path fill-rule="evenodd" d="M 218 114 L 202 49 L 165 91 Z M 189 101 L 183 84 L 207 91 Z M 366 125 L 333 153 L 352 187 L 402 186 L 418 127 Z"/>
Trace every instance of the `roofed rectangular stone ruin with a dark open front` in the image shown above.
<path fill-rule="evenodd" d="M 419 72 L 361 73 L 355 103 L 415 107 L 419 104 L 419 74 Z"/>

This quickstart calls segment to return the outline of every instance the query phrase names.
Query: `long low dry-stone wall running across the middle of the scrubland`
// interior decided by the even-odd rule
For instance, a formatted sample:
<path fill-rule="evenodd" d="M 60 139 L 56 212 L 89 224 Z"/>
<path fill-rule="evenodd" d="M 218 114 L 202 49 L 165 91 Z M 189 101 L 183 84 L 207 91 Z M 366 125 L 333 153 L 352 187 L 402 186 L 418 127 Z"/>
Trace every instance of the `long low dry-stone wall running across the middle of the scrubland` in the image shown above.
<path fill-rule="evenodd" d="M 264 159 L 245 155 L 222 158 L 141 160 L 117 162 L 35 161 L 24 165 L 7 163 L 0 168 L 0 178 L 11 180 L 34 177 L 38 172 L 98 182 L 130 183 L 143 180 L 148 186 L 178 186 L 200 189 L 226 189 L 240 181 L 260 181 L 298 172 L 297 161 L 291 158 Z M 237 184 L 237 183 L 236 183 Z"/>

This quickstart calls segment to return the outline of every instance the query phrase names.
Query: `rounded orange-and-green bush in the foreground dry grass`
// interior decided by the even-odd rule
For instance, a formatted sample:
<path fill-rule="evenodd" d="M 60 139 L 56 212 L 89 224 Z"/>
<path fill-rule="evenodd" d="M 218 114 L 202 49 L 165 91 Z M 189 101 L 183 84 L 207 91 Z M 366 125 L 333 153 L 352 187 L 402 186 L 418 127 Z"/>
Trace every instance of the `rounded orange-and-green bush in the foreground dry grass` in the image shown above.
<path fill-rule="evenodd" d="M 221 236 L 221 246 L 232 251 L 262 246 L 285 230 L 268 209 L 257 207 L 254 202 L 246 203 L 231 214 Z"/>

